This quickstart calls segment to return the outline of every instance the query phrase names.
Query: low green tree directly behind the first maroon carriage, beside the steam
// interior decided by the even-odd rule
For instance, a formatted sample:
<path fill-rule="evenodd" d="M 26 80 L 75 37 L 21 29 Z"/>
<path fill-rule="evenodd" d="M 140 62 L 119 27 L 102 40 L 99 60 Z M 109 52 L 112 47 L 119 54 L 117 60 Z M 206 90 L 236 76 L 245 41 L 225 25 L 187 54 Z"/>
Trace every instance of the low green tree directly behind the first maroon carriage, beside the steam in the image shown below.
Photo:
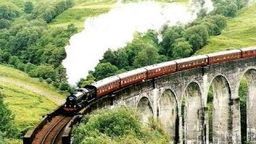
<path fill-rule="evenodd" d="M 111 65 L 110 62 L 99 63 L 95 67 L 95 71 L 93 72 L 93 75 L 96 78 L 96 81 L 98 81 L 103 78 L 110 77 L 110 76 L 114 75 L 117 71 L 118 71 L 118 67 Z"/>

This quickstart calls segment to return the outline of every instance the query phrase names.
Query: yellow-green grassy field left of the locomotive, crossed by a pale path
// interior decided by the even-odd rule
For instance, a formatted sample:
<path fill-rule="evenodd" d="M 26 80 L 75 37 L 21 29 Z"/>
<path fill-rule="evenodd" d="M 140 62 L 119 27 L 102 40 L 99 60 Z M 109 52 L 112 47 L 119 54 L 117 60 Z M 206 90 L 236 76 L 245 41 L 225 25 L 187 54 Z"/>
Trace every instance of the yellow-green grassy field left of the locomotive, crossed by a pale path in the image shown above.
<path fill-rule="evenodd" d="M 59 103 L 54 102 L 53 98 L 64 100 L 66 95 L 58 93 L 46 83 L 39 82 L 37 78 L 30 78 L 22 71 L 2 65 L 0 92 L 15 115 L 14 123 L 20 130 L 34 126 L 43 114 L 54 110 Z M 46 98 L 46 94 L 53 98 Z"/>

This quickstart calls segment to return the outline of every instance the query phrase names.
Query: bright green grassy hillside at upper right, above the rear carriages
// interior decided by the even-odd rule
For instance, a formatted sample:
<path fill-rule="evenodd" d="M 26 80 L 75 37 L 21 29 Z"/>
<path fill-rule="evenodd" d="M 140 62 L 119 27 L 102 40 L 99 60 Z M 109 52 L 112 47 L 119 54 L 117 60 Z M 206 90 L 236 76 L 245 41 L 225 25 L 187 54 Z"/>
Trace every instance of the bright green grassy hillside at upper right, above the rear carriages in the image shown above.
<path fill-rule="evenodd" d="M 230 18 L 221 35 L 210 38 L 209 44 L 197 54 L 235 49 L 246 46 L 256 46 L 256 2 L 238 13 L 236 18 Z"/>

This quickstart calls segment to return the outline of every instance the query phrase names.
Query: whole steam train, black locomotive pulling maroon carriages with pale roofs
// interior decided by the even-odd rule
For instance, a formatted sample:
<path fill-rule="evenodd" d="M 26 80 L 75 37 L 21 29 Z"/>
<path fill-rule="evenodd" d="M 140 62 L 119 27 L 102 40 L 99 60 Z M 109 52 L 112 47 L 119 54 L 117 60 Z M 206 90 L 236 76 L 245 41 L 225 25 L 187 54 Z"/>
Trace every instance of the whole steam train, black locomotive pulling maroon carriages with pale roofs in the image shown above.
<path fill-rule="evenodd" d="M 94 82 L 90 86 L 78 89 L 66 98 L 64 110 L 76 112 L 93 102 L 95 99 L 110 95 L 115 90 L 133 85 L 147 79 L 156 78 L 165 74 L 171 74 L 180 70 L 187 70 L 199 66 L 212 65 L 219 62 L 229 62 L 239 58 L 256 56 L 256 47 L 248 47 L 240 50 L 227 50 L 213 54 L 205 54 L 190 58 L 182 58 L 170 62 L 162 62 L 151 66 L 145 66 L 136 70 L 130 70 Z"/>

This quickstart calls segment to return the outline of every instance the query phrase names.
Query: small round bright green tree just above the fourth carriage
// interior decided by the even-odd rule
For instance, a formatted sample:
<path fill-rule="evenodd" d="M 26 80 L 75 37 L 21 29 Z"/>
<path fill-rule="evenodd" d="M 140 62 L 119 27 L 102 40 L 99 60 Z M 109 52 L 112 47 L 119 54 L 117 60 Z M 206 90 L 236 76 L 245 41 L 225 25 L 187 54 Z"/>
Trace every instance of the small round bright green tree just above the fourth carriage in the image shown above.
<path fill-rule="evenodd" d="M 192 52 L 191 45 L 185 38 L 178 38 L 174 42 L 174 58 L 186 58 Z"/>

